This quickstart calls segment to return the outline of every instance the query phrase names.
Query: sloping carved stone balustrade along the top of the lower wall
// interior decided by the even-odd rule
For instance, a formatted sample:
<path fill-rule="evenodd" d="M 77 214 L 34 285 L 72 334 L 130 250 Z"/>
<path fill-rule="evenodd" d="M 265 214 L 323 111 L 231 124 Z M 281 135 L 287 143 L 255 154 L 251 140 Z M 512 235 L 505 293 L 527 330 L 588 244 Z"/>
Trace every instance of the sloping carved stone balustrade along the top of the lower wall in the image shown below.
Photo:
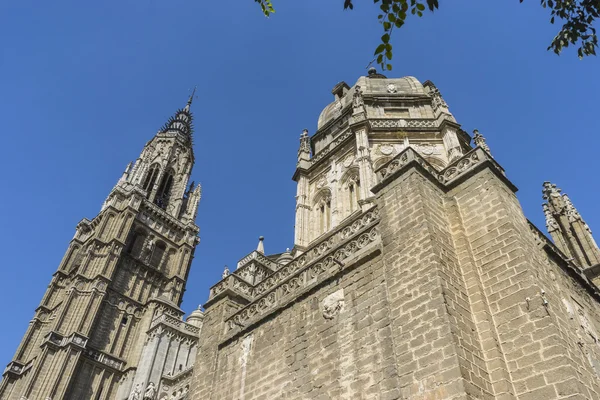
<path fill-rule="evenodd" d="M 345 260 L 368 254 L 377 248 L 380 243 L 378 224 L 379 211 L 372 208 L 250 288 L 251 303 L 226 320 L 225 341 L 340 273 L 346 265 Z M 235 278 L 232 277 L 227 278 L 227 289 L 235 285 Z"/>

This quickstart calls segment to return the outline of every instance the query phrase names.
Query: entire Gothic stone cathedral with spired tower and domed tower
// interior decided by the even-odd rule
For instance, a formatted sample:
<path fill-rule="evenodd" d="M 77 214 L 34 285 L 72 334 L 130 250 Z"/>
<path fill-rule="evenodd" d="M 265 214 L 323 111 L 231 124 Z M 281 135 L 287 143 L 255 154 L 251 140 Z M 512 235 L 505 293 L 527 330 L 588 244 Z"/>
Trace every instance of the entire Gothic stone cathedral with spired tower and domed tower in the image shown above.
<path fill-rule="evenodd" d="M 300 135 L 294 247 L 260 238 L 184 318 L 192 95 L 76 226 L 0 400 L 600 399 L 600 250 L 571 199 L 544 182 L 534 226 L 431 81 L 371 68 L 332 95 Z"/>

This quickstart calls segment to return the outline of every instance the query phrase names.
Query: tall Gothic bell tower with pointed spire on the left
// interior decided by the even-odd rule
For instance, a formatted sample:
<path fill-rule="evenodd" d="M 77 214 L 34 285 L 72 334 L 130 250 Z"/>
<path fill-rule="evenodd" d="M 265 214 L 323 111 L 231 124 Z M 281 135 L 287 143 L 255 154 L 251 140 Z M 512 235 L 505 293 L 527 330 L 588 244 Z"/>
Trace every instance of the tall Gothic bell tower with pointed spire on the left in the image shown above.
<path fill-rule="evenodd" d="M 157 316 L 181 319 L 199 243 L 192 98 L 127 166 L 100 213 L 77 225 L 0 399 L 122 399 L 136 374 L 143 389 L 156 384 L 137 373 L 146 333 Z"/>

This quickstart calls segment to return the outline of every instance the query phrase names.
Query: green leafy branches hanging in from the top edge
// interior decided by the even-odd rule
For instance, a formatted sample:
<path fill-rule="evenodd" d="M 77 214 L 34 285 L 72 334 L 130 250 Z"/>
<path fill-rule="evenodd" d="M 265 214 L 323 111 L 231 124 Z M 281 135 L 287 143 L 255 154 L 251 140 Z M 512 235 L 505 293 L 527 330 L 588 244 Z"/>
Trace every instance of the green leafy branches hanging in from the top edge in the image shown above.
<path fill-rule="evenodd" d="M 260 4 L 265 16 L 275 12 L 271 0 L 254 0 Z M 521 3 L 523 0 L 519 0 Z M 600 18 L 600 0 L 540 0 L 543 8 L 550 9 L 550 23 L 560 20 L 563 25 L 552 39 L 548 50 L 560 54 L 570 45 L 578 45 L 577 55 L 596 55 L 598 37 L 593 27 L 596 18 Z M 379 5 L 379 22 L 383 26 L 381 43 L 375 49 L 375 60 L 383 68 L 392 69 L 392 44 L 390 38 L 394 28 L 401 28 L 409 15 L 423 16 L 427 8 L 433 12 L 439 7 L 438 0 L 373 0 Z M 344 9 L 353 10 L 353 0 L 344 0 Z"/>

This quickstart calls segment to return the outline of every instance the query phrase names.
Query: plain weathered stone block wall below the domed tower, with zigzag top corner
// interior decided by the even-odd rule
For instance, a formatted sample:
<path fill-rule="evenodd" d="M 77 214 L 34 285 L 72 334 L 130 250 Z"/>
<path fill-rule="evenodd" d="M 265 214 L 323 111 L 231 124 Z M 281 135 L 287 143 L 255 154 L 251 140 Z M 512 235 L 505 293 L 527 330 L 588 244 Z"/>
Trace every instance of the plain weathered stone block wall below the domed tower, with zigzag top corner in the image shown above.
<path fill-rule="evenodd" d="M 235 329 L 259 300 L 208 304 L 191 398 L 600 398 L 597 288 L 499 165 L 409 149 L 378 174 L 369 251 Z"/>

